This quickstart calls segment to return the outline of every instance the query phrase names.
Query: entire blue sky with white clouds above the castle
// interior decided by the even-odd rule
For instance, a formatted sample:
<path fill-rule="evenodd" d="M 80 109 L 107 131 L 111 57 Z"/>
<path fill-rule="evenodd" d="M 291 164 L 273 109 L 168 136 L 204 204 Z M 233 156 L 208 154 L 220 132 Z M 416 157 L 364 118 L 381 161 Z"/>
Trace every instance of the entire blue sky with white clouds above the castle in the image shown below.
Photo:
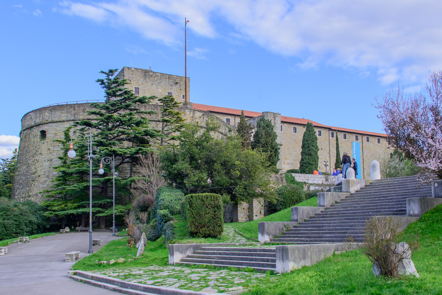
<path fill-rule="evenodd" d="M 440 0 L 2 0 L 0 158 L 21 118 L 102 99 L 101 70 L 184 76 L 190 99 L 383 132 L 375 98 L 442 65 Z"/>

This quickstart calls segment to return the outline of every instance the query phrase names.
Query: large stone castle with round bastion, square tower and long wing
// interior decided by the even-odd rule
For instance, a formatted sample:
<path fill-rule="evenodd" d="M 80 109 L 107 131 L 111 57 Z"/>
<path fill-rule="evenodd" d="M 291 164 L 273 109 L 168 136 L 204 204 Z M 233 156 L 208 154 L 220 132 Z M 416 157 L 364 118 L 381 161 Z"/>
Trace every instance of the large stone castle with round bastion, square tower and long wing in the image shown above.
<path fill-rule="evenodd" d="M 188 102 L 185 102 L 184 77 L 131 67 L 123 67 L 117 76 L 127 79 L 130 82 L 128 88 L 132 88 L 137 95 L 173 95 L 176 101 L 182 102 L 180 111 L 187 121 L 204 122 L 208 118 L 219 120 L 222 125 L 220 132 L 223 135 L 236 128 L 241 116 L 241 110 L 190 102 L 190 78 L 187 78 Z M 158 105 L 154 101 L 146 108 L 156 110 Z M 53 167 L 59 164 L 57 157 L 61 155 L 61 150 L 54 140 L 62 139 L 63 130 L 74 121 L 93 119 L 87 115 L 88 110 L 91 110 L 89 101 L 78 101 L 42 107 L 23 116 L 12 189 L 13 199 L 30 199 L 37 203 L 43 201 L 40 192 L 50 188 L 51 180 L 56 175 Z M 381 159 L 389 152 L 385 134 L 327 126 L 312 120 L 281 116 L 272 112 L 244 110 L 244 115 L 248 122 L 255 126 L 260 116 L 272 121 L 280 146 L 277 168 L 282 172 L 299 168 L 302 138 L 307 122 L 313 123 L 318 137 L 319 168 L 322 172 L 332 171 L 336 137 L 339 139 L 341 153 L 347 151 L 357 159 L 359 178 L 369 178 L 370 162 Z M 153 126 L 157 126 L 158 119 L 149 119 Z"/>

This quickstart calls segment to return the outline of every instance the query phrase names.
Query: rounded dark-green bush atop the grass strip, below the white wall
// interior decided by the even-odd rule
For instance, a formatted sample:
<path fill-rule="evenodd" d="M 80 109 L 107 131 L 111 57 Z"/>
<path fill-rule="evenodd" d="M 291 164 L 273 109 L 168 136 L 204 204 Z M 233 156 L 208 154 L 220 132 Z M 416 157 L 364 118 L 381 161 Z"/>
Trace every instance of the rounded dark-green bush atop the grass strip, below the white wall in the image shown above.
<path fill-rule="evenodd" d="M 270 214 L 304 201 L 304 190 L 298 185 L 285 184 L 276 190 L 276 194 L 276 201 L 274 203 L 269 202 Z"/>

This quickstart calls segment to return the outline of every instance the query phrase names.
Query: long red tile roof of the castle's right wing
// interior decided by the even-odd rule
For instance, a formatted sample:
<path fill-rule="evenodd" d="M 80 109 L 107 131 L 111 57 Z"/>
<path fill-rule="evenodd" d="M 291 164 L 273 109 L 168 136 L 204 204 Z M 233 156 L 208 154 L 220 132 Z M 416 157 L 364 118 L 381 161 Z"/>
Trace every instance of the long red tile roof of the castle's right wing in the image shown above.
<path fill-rule="evenodd" d="M 199 104 L 199 103 L 193 103 L 193 109 L 198 110 L 198 111 L 241 116 L 241 110 L 208 106 L 208 105 L 203 105 L 203 104 Z M 244 116 L 249 117 L 249 118 L 258 117 L 261 115 L 262 115 L 262 113 L 244 110 Z M 293 118 L 293 117 L 281 116 L 281 122 L 294 123 L 294 124 L 300 124 L 300 125 L 306 125 L 307 122 L 311 122 L 313 124 L 313 126 L 315 126 L 315 127 L 329 128 L 331 130 L 336 130 L 336 131 L 341 131 L 341 132 L 351 132 L 351 133 L 359 133 L 359 134 L 364 134 L 364 135 L 387 137 L 387 135 L 383 134 L 383 133 L 368 132 L 368 131 L 361 131 L 361 130 L 355 130 L 355 129 L 349 129 L 349 128 L 328 126 L 328 125 L 320 124 L 318 122 L 304 119 L 304 118 Z"/>

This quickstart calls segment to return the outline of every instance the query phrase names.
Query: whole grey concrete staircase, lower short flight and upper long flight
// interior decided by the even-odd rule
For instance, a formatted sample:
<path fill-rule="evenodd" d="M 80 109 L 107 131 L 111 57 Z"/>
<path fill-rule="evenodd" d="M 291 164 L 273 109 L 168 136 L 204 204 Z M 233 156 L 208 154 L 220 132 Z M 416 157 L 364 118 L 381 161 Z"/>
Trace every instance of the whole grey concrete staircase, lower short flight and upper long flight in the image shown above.
<path fill-rule="evenodd" d="M 416 177 L 375 180 L 281 235 L 271 238 L 270 242 L 300 245 L 297 247 L 314 244 L 340 245 L 350 236 L 360 242 L 363 240 L 365 223 L 370 217 L 406 216 L 407 198 L 431 196 L 431 185 L 422 185 Z M 276 270 L 278 247 L 282 246 L 202 247 L 181 258 L 176 264 L 251 267 L 258 271 Z"/>

